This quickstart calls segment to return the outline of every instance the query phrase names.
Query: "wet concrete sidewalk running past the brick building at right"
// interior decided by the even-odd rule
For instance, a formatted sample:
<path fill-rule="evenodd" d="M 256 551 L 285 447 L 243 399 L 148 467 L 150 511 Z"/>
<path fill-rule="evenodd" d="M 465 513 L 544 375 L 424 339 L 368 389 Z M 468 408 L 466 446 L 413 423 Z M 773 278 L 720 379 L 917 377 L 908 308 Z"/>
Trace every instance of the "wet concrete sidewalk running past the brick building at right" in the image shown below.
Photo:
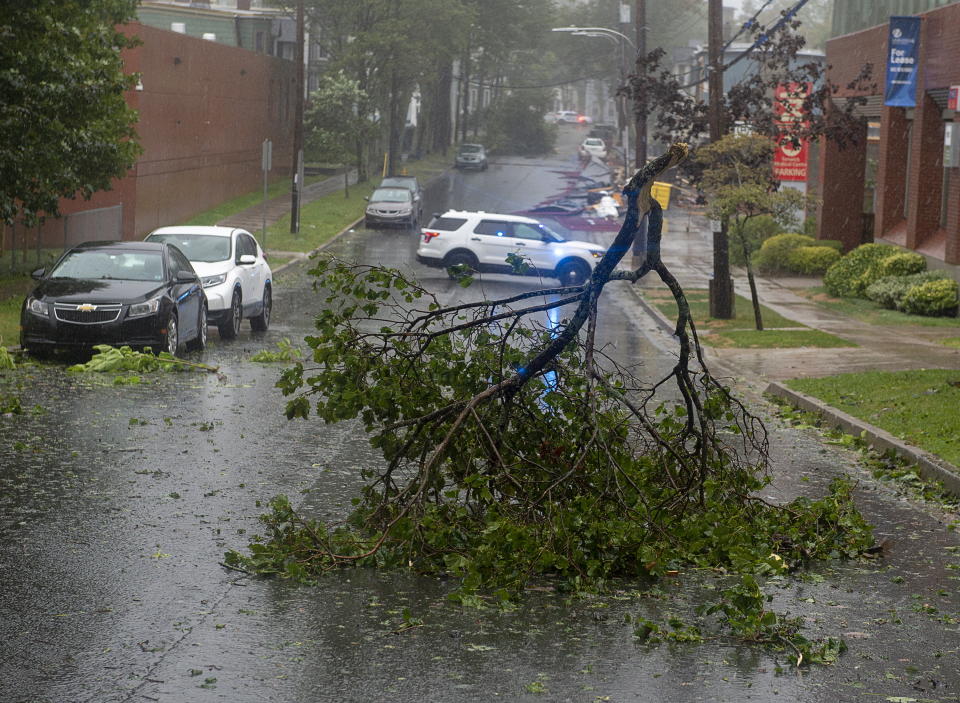
<path fill-rule="evenodd" d="M 665 213 L 662 257 L 685 288 L 707 288 L 713 276 L 713 235 L 699 213 L 671 207 Z M 749 299 L 746 272 L 733 271 L 736 292 Z M 936 340 L 960 328 L 896 326 L 861 322 L 822 308 L 791 288 L 820 285 L 819 278 L 756 279 L 760 302 L 784 317 L 847 339 L 859 346 L 838 349 L 730 349 L 709 347 L 709 359 L 737 375 L 767 380 L 829 376 L 857 371 L 919 368 L 960 369 L 960 349 Z"/>

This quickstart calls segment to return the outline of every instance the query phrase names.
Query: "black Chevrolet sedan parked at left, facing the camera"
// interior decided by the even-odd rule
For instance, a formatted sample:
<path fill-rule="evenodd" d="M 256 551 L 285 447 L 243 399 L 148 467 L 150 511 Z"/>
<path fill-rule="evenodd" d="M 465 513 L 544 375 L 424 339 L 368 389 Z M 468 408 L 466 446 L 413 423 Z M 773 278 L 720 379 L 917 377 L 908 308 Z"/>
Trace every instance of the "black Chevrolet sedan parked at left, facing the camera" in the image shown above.
<path fill-rule="evenodd" d="M 207 343 L 207 299 L 170 244 L 86 242 L 65 252 L 23 301 L 20 345 L 31 353 L 94 344 L 176 354 Z"/>

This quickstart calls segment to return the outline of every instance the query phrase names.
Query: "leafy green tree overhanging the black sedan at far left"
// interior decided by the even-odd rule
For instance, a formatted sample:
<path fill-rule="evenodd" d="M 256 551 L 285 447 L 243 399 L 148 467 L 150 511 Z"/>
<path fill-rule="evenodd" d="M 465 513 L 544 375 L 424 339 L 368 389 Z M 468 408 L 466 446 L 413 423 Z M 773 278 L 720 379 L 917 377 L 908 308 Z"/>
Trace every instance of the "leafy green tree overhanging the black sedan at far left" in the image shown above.
<path fill-rule="evenodd" d="M 0 17 L 0 220 L 34 223 L 60 198 L 108 190 L 140 154 L 116 29 L 136 0 L 4 3 Z"/>

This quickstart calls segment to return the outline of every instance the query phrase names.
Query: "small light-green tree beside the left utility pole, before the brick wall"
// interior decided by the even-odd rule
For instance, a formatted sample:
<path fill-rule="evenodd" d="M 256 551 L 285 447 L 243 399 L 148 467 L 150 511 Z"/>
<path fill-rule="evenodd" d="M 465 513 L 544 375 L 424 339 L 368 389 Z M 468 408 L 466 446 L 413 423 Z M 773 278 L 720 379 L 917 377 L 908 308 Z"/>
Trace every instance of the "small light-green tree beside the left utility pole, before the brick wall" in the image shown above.
<path fill-rule="evenodd" d="M 311 158 L 344 165 L 353 162 L 360 168 L 356 145 L 366 141 L 376 129 L 361 111 L 366 99 L 359 83 L 343 71 L 320 78 L 304 115 L 306 148 Z M 346 174 L 344 197 L 350 197 Z"/>

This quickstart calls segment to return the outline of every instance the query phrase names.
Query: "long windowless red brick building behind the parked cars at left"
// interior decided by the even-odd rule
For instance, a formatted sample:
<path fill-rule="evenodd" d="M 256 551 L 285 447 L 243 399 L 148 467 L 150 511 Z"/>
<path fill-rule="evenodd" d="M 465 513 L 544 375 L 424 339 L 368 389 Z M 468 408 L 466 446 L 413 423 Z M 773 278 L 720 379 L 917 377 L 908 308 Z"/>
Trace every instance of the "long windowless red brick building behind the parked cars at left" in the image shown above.
<path fill-rule="evenodd" d="M 139 23 L 124 31 L 143 42 L 124 52 L 127 72 L 141 74 L 127 103 L 140 113 L 143 154 L 112 190 L 62 200 L 62 217 L 42 229 L 44 247 L 137 239 L 256 190 L 264 139 L 273 140 L 271 175 L 290 173 L 291 61 Z M 36 241 L 17 229 L 18 242 Z"/>

